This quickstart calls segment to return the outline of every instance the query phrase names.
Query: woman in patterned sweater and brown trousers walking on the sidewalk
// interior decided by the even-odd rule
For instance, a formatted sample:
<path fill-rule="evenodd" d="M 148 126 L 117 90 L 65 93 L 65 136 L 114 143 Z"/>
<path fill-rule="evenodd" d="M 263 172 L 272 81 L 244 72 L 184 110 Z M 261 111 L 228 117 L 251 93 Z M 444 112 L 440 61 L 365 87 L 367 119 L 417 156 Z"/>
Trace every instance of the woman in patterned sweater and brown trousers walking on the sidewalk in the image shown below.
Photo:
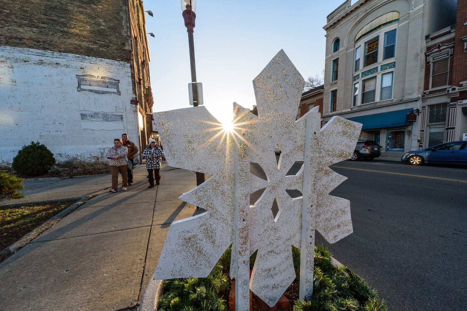
<path fill-rule="evenodd" d="M 128 187 L 128 176 L 127 176 L 127 154 L 128 149 L 122 147 L 123 142 L 120 138 L 113 140 L 113 147 L 107 150 L 107 159 L 109 159 L 110 173 L 112 174 L 112 189 L 110 192 L 117 192 L 118 190 L 118 173 L 120 172 L 122 181 L 122 190 L 126 190 Z"/>

